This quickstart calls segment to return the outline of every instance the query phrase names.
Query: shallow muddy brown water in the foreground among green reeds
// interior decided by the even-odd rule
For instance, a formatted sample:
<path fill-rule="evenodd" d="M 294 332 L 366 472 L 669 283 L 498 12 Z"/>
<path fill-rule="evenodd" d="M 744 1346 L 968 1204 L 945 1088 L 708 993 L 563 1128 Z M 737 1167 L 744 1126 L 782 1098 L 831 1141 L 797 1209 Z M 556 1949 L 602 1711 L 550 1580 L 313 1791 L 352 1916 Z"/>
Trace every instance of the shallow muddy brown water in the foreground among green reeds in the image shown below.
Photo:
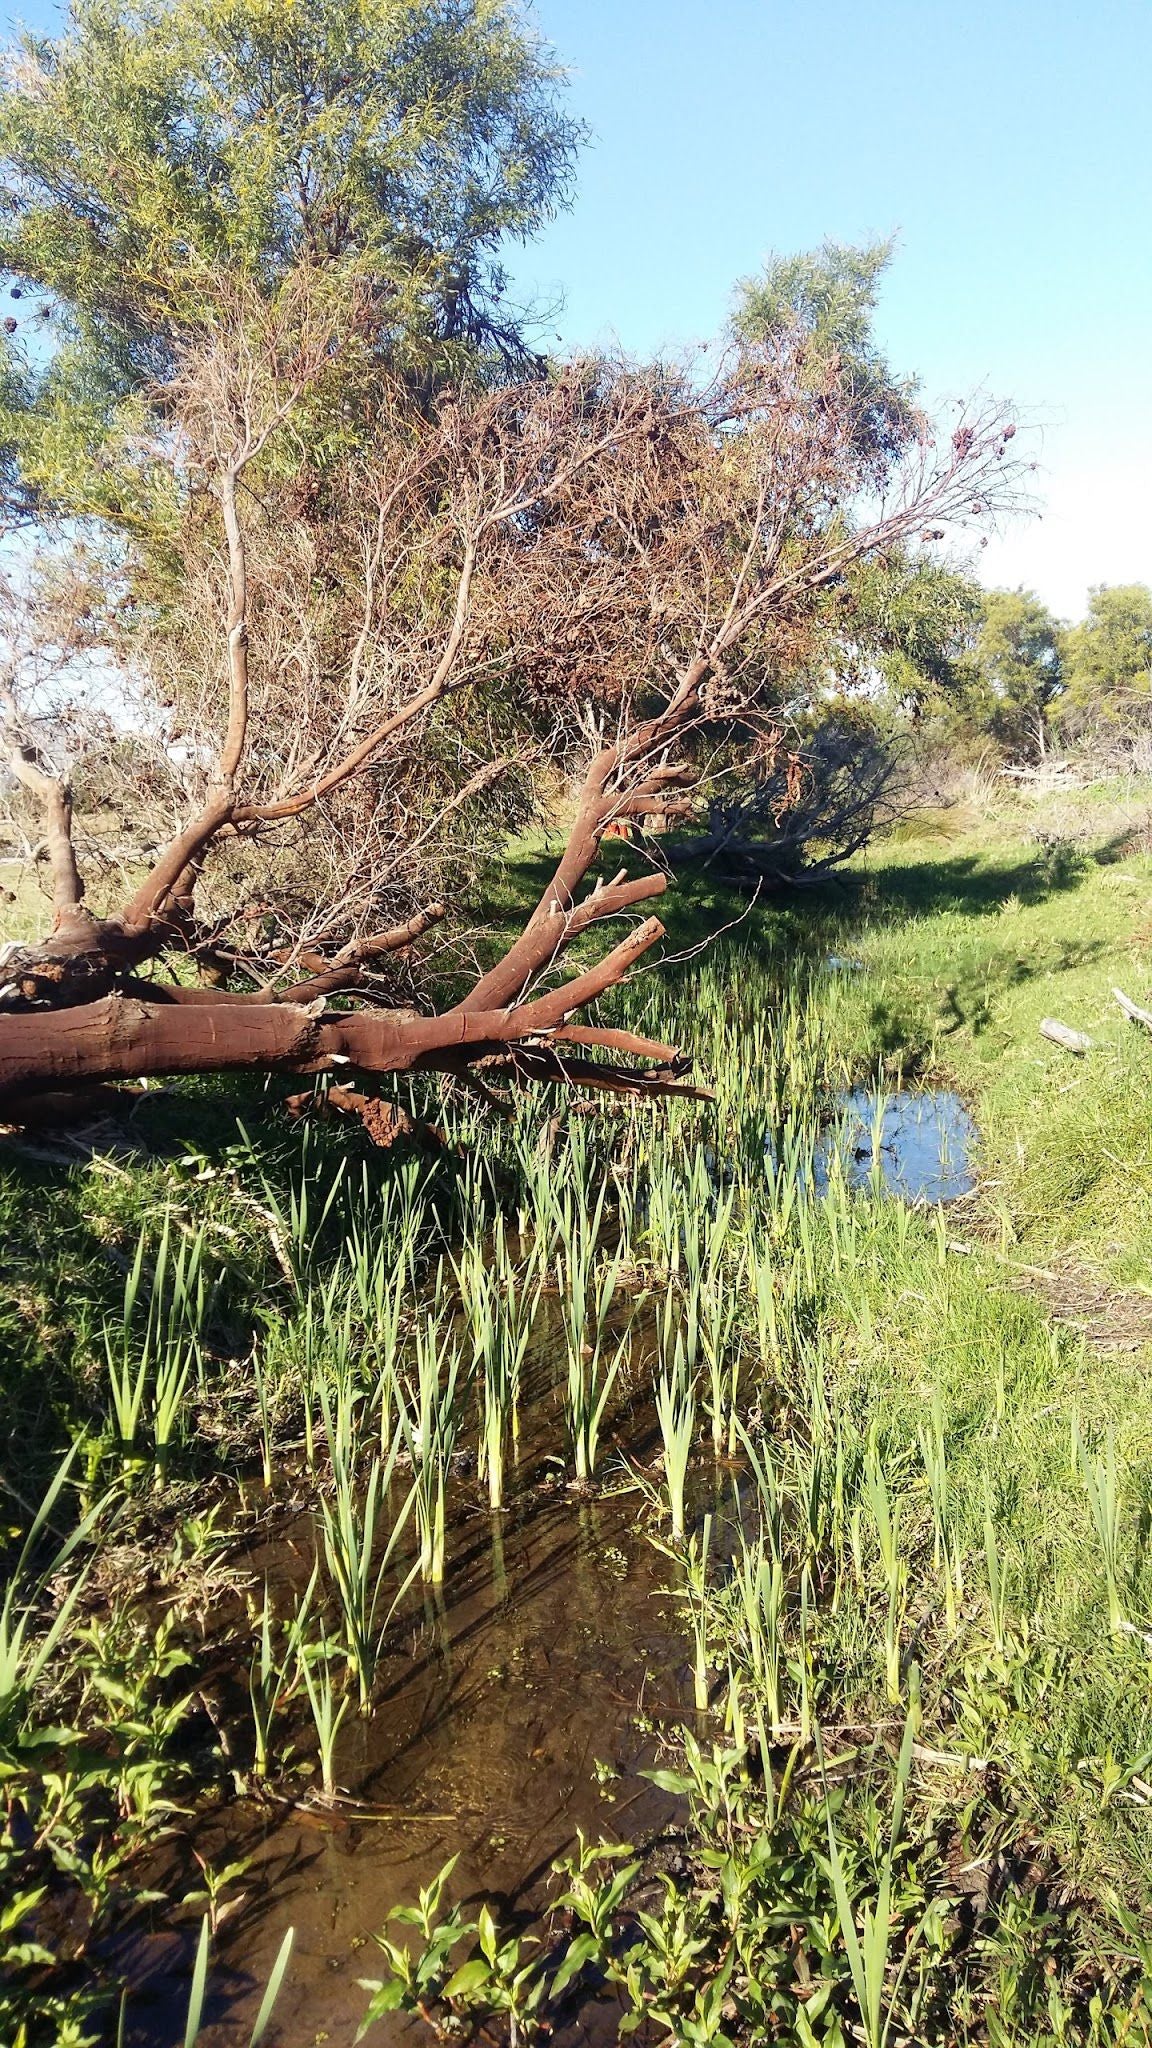
<path fill-rule="evenodd" d="M 474 1909 L 488 1898 L 502 1929 L 541 1933 L 558 1888 L 551 1864 L 580 1829 L 650 1843 L 676 1819 L 676 1802 L 640 1776 L 656 1761 L 660 1729 L 691 1718 L 693 1698 L 672 1565 L 644 1532 L 644 1499 L 621 1458 L 627 1446 L 629 1458 L 650 1462 L 658 1448 L 648 1370 L 635 1395 L 623 1386 L 615 1403 L 603 1487 L 586 1497 L 564 1481 L 553 1374 L 541 1384 L 537 1366 L 504 1513 L 488 1511 L 476 1477 L 455 1485 L 445 1585 L 406 1595 L 373 1716 L 351 1712 L 340 1731 L 336 1778 L 351 1800 L 336 1810 L 240 1800 L 189 1827 L 187 1843 L 215 1868 L 250 1858 L 232 1888 L 244 1898 L 213 1950 L 199 2048 L 246 2048 L 289 1927 L 293 1954 L 266 2048 L 351 2048 L 367 2007 L 357 1980 L 383 1974 L 371 1935 L 449 1855 L 459 1862 L 447 1901 Z M 728 1475 L 711 1458 L 699 1464 L 711 1505 L 730 1491 Z M 301 1516 L 295 1532 L 277 1532 L 244 1563 L 275 1583 L 287 1577 L 289 1552 L 291 1577 L 305 1577 L 310 1544 Z M 314 1753 L 305 1724 L 295 1739 Z M 180 1888 L 191 1888 L 189 1849 L 178 1862 Z M 182 2042 L 197 1929 L 189 1915 L 121 1952 L 133 1982 L 131 2048 Z M 465 1954 L 461 1946 L 457 1960 Z M 566 2036 L 613 2040 L 613 2013 L 590 2007 Z M 369 2042 L 418 2036 L 430 2038 L 418 2021 L 387 2015 Z"/>

